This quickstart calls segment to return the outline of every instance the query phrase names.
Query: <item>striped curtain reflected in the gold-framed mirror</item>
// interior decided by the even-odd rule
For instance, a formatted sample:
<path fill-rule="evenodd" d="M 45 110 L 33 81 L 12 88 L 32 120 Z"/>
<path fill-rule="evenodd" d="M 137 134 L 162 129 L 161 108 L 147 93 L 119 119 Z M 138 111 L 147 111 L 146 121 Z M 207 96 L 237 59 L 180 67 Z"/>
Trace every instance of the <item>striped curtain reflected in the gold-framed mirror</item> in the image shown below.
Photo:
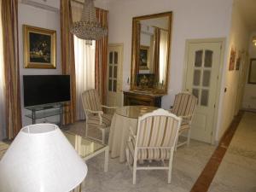
<path fill-rule="evenodd" d="M 160 82 L 160 28 L 158 27 L 154 27 L 154 77 Z"/>

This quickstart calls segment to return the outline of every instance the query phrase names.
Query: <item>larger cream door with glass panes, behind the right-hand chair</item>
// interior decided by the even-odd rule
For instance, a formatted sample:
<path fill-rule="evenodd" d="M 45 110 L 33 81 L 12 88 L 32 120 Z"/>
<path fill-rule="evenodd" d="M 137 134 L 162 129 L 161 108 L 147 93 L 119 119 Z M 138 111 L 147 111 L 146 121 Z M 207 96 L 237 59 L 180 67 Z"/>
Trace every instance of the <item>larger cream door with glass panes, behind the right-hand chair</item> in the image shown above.
<path fill-rule="evenodd" d="M 198 98 L 191 138 L 206 143 L 212 143 L 221 45 L 221 42 L 188 44 L 185 89 Z"/>

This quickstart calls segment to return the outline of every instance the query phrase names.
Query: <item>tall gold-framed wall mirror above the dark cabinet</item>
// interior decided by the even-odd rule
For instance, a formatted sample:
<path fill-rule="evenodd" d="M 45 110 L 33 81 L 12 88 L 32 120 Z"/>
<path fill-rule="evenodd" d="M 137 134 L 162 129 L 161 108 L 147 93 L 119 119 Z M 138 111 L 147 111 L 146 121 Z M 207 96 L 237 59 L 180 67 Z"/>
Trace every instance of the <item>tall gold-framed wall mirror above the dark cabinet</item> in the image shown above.
<path fill-rule="evenodd" d="M 172 12 L 132 19 L 131 90 L 167 92 Z"/>

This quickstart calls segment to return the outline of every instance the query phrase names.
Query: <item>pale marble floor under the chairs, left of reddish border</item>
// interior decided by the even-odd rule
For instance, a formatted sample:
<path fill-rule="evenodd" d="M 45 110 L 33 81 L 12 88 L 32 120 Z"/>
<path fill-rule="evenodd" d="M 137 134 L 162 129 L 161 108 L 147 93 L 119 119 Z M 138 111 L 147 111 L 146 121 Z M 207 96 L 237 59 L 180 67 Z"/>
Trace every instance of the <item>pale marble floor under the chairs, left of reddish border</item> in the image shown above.
<path fill-rule="evenodd" d="M 84 122 L 70 126 L 70 131 L 84 135 Z M 100 132 L 89 131 L 90 135 L 100 136 Z M 137 184 L 132 184 L 131 170 L 119 159 L 109 160 L 108 172 L 103 172 L 103 155 L 86 162 L 89 172 L 84 180 L 82 191 L 86 192 L 187 192 L 199 177 L 215 146 L 192 140 L 189 148 L 181 147 L 173 160 L 172 183 L 167 184 L 166 171 L 138 171 Z"/>

